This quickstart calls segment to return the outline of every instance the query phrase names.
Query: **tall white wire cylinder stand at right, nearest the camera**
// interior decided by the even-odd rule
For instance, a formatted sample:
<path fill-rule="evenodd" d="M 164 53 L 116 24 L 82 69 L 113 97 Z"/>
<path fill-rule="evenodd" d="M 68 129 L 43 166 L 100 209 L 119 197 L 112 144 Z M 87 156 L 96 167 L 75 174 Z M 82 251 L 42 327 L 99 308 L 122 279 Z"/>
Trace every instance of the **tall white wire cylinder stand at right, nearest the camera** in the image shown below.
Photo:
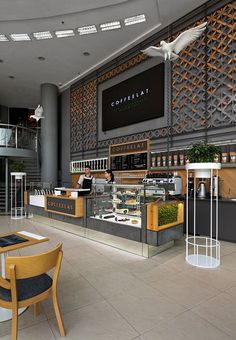
<path fill-rule="evenodd" d="M 186 165 L 187 185 L 186 185 L 186 261 L 195 267 L 216 268 L 220 265 L 220 242 L 218 241 L 218 190 L 214 197 L 215 201 L 215 225 L 213 226 L 213 171 L 218 178 L 220 163 L 189 163 Z M 193 235 L 189 236 L 189 196 L 188 180 L 189 170 L 194 173 L 194 196 L 193 196 Z M 209 236 L 196 236 L 196 179 L 210 178 L 210 199 L 209 199 Z M 215 238 L 213 238 L 213 232 Z"/>

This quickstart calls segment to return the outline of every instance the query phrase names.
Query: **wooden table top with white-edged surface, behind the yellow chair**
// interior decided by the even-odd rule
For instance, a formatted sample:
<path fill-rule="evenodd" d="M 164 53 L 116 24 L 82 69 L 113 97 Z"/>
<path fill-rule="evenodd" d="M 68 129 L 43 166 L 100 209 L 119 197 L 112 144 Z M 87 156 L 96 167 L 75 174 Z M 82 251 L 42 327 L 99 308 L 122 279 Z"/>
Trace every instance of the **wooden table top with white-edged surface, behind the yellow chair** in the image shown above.
<path fill-rule="evenodd" d="M 5 237 L 5 236 L 9 236 L 9 235 L 18 235 L 18 236 L 26 239 L 27 241 L 17 243 L 17 244 L 13 244 L 13 245 L 9 245 L 7 247 L 0 247 L 0 254 L 6 253 L 8 251 L 13 251 L 13 250 L 17 250 L 17 249 L 20 249 L 20 248 L 24 248 L 24 247 L 33 246 L 34 244 L 49 241 L 49 239 L 47 237 L 37 235 L 37 234 L 33 234 L 33 233 L 30 233 L 28 231 L 23 231 L 23 230 L 22 231 L 12 231 L 12 232 L 9 232 L 9 233 L 0 234 L 0 238 Z"/>

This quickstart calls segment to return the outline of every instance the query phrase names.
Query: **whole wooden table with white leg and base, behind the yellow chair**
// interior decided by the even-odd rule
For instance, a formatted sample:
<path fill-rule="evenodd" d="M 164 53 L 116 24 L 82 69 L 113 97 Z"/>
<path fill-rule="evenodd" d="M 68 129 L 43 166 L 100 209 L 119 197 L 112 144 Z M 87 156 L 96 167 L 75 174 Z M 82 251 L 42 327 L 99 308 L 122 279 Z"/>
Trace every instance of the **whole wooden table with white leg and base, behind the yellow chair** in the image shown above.
<path fill-rule="evenodd" d="M 13 245 L 6 246 L 6 247 L 0 247 L 1 265 L 2 265 L 1 275 L 2 275 L 2 277 L 5 277 L 5 258 L 8 254 L 8 252 L 13 251 L 13 250 L 17 250 L 17 249 L 21 249 L 21 248 L 24 248 L 24 247 L 33 246 L 35 244 L 39 244 L 39 243 L 42 243 L 42 242 L 49 241 L 49 239 L 47 237 L 36 235 L 36 234 L 30 233 L 30 232 L 27 232 L 27 231 L 12 231 L 10 233 L 0 234 L 0 239 L 2 237 L 9 236 L 9 235 L 18 235 L 18 236 L 26 239 L 27 241 L 22 242 L 22 243 L 13 244 Z M 26 308 L 20 308 L 19 311 L 18 311 L 18 314 L 23 313 L 23 311 L 25 309 Z M 11 318 L 12 318 L 11 309 L 6 309 L 6 308 L 0 307 L 0 322 L 10 320 Z"/>

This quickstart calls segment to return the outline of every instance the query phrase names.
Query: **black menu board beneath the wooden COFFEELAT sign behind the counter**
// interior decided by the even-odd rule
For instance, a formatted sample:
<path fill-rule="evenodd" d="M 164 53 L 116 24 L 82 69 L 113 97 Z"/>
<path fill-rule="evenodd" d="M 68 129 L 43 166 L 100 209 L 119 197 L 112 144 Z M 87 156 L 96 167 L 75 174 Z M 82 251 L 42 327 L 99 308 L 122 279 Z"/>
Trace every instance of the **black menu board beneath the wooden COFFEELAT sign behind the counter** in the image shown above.
<path fill-rule="evenodd" d="M 146 170 L 147 152 L 128 155 L 113 156 L 110 158 L 111 169 L 113 171 L 125 170 Z"/>

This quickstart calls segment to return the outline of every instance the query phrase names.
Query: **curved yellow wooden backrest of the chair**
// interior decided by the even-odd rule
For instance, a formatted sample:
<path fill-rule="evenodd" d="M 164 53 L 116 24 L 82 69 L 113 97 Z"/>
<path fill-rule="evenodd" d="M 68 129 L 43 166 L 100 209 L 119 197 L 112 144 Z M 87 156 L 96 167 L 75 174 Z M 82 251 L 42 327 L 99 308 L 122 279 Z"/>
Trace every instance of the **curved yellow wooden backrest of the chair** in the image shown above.
<path fill-rule="evenodd" d="M 62 244 L 56 248 L 32 256 L 8 256 L 6 258 L 6 278 L 11 279 L 11 268 L 15 267 L 16 279 L 47 273 L 54 267 L 59 267 L 62 259 Z M 59 268 L 57 268 L 59 270 Z"/>

